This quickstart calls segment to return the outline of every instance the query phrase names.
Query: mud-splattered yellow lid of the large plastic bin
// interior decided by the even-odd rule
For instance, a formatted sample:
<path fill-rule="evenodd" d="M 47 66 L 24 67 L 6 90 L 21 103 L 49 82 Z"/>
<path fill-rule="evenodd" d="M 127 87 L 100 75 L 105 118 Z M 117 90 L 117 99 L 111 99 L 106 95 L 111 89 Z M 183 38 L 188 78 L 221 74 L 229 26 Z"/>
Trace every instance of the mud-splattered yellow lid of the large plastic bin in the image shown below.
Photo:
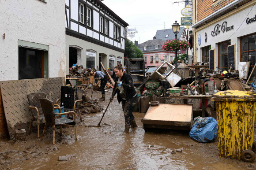
<path fill-rule="evenodd" d="M 239 90 L 227 90 L 217 92 L 211 98 L 212 101 L 256 101 L 256 92 L 252 91 L 239 91 Z"/>

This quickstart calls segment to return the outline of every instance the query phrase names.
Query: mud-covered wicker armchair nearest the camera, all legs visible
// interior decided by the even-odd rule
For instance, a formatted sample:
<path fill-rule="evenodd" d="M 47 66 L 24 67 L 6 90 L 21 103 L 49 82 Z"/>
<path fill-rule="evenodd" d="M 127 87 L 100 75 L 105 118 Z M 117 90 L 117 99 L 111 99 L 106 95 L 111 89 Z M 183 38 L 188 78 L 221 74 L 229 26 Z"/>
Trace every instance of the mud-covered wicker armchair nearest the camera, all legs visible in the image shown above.
<path fill-rule="evenodd" d="M 45 115 L 45 127 L 44 131 L 41 137 L 41 140 L 43 140 L 45 129 L 48 126 L 53 127 L 53 144 L 55 144 L 55 129 L 56 126 L 60 126 L 60 136 L 62 136 L 62 126 L 69 126 L 69 127 L 75 127 L 75 140 L 77 140 L 77 134 L 76 134 L 76 114 L 74 111 L 68 111 L 64 113 L 54 113 L 54 109 L 58 108 L 60 112 L 60 107 L 54 107 L 54 103 L 51 100 L 48 99 L 40 99 L 40 103 L 42 106 L 43 114 Z M 73 115 L 73 120 L 69 118 L 62 117 L 62 115 Z"/>

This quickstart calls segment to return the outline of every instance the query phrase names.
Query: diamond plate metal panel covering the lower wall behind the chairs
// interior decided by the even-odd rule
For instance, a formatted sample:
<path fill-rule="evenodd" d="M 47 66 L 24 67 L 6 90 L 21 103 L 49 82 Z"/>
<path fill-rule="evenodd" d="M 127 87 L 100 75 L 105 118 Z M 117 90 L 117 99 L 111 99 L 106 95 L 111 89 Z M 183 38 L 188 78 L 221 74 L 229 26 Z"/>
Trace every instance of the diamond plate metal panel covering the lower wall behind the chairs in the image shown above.
<path fill-rule="evenodd" d="M 32 92 L 45 92 L 46 98 L 56 101 L 60 98 L 60 87 L 65 78 L 38 78 L 27 80 L 0 81 L 4 114 L 10 136 L 15 129 L 28 129 L 31 113 L 26 95 Z"/>

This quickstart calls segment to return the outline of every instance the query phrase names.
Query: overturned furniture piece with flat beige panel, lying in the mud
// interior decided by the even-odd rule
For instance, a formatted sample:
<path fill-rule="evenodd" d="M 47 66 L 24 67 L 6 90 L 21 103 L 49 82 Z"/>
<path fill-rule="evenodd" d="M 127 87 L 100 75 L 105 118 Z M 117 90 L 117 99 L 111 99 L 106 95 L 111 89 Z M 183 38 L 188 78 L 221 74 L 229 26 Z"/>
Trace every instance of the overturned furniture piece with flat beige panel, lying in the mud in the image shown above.
<path fill-rule="evenodd" d="M 141 120 L 143 129 L 182 129 L 190 130 L 193 106 L 184 104 L 159 104 L 150 106 Z"/>

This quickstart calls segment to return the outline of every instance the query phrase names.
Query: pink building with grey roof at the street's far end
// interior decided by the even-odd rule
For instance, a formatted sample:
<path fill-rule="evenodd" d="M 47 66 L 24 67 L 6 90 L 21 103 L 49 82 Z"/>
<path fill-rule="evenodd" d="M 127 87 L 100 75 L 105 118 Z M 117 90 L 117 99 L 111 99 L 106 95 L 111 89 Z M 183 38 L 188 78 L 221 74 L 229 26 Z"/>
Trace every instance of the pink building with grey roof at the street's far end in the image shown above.
<path fill-rule="evenodd" d="M 186 31 L 184 27 L 180 28 L 180 32 L 177 35 L 178 39 L 186 39 Z M 175 35 L 172 29 L 166 30 L 157 30 L 153 40 L 148 40 L 141 44 L 138 44 L 138 41 L 135 41 L 135 45 L 142 51 L 145 59 L 145 68 L 147 66 L 160 66 L 165 61 L 173 61 L 175 59 L 175 51 L 166 52 L 162 50 L 162 44 L 165 41 L 175 39 Z M 177 55 L 185 54 L 186 50 L 181 50 L 177 52 Z"/>

